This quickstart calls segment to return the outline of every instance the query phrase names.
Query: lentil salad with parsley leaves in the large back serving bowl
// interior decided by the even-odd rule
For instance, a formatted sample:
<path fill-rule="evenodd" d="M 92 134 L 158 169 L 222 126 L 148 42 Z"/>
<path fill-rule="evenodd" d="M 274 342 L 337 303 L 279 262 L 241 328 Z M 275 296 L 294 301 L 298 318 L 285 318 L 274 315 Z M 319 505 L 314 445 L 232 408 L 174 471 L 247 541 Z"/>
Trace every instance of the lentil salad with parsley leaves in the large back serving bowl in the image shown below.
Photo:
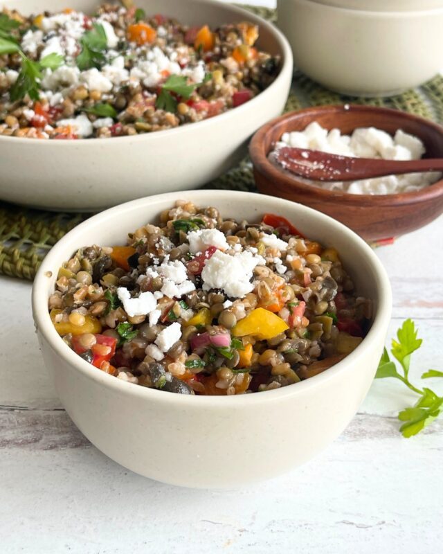
<path fill-rule="evenodd" d="M 280 59 L 247 21 L 216 29 L 105 3 L 0 12 L 0 135 L 108 138 L 195 123 L 251 100 Z"/>

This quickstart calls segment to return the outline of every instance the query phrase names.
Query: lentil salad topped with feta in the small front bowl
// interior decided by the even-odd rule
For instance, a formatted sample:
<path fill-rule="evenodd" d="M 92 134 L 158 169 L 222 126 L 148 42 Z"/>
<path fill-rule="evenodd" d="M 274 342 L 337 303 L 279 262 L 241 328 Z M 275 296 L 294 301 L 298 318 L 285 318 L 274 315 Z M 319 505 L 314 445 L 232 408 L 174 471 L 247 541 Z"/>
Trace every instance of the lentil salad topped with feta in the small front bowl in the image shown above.
<path fill-rule="evenodd" d="M 197 395 L 317 375 L 359 345 L 371 316 L 334 248 L 276 215 L 237 222 L 186 201 L 126 246 L 74 253 L 48 307 L 55 330 L 98 370 Z"/>

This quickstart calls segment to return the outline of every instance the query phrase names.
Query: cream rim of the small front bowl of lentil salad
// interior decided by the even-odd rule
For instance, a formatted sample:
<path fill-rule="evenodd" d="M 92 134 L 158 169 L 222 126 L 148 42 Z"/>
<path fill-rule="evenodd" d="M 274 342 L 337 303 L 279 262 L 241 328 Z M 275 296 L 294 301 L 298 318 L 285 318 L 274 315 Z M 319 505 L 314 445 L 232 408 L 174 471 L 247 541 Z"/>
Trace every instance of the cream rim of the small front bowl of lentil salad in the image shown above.
<path fill-rule="evenodd" d="M 65 247 L 65 244 L 68 245 L 71 242 L 73 235 L 87 229 L 91 223 L 96 224 L 100 222 L 103 225 L 110 225 L 116 217 L 122 215 L 123 213 L 128 213 L 132 209 L 136 208 L 139 205 L 143 206 L 152 206 L 156 202 L 161 203 L 165 200 L 169 200 L 171 204 L 174 200 L 183 197 L 189 197 L 192 202 L 199 202 L 203 204 L 204 202 L 211 202 L 214 193 L 221 194 L 224 196 L 229 196 L 233 202 L 236 202 L 237 199 L 239 202 L 251 202 L 253 205 L 257 205 L 257 198 L 262 197 L 262 204 L 265 209 L 265 206 L 269 204 L 269 197 L 265 195 L 258 195 L 257 193 L 245 193 L 240 191 L 231 191 L 231 190 L 185 190 L 179 193 L 164 193 L 161 195 L 148 196 L 141 199 L 132 200 L 131 202 L 126 202 L 125 204 L 120 204 L 119 206 L 114 206 L 114 208 L 109 208 L 106 211 L 93 215 L 88 220 L 80 223 L 74 229 L 66 233 L 64 237 L 55 244 L 55 246 L 49 251 L 42 265 L 37 271 L 37 276 L 33 284 L 32 292 L 32 308 L 33 308 L 33 319 L 35 323 L 35 328 L 37 334 L 42 334 L 42 337 L 46 341 L 53 352 L 58 357 L 61 357 L 66 361 L 73 370 L 80 371 L 85 377 L 92 379 L 93 382 L 112 389 L 116 393 L 127 394 L 127 395 L 136 395 L 137 397 L 145 397 L 147 401 L 150 402 L 160 402 L 163 404 L 169 404 L 170 402 L 179 402 L 183 406 L 201 406 L 204 408 L 215 408 L 220 409 L 221 406 L 228 406 L 231 408 L 234 406 L 244 406 L 245 404 L 253 404 L 254 402 L 276 402 L 280 397 L 286 397 L 288 395 L 300 395 L 304 391 L 311 387 L 321 386 L 325 384 L 330 379 L 334 379 L 336 375 L 342 373 L 346 370 L 352 369 L 354 361 L 359 358 L 360 352 L 363 349 L 371 350 L 374 345 L 379 341 L 379 334 L 382 333 L 383 337 L 386 334 L 386 327 L 388 321 L 390 320 L 391 307 L 392 307 L 392 292 L 390 287 L 390 282 L 386 270 L 379 258 L 377 258 L 374 251 L 366 244 L 366 242 L 356 235 L 354 231 L 348 229 L 345 225 L 337 222 L 332 217 L 320 213 L 312 208 L 303 206 L 302 204 L 296 204 L 295 202 L 290 202 L 289 200 L 273 198 L 271 204 L 278 204 L 279 206 L 286 205 L 291 206 L 296 204 L 300 206 L 303 211 L 306 211 L 313 217 L 327 227 L 334 227 L 336 230 L 341 231 L 347 236 L 347 239 L 351 242 L 354 242 L 357 248 L 362 249 L 365 256 L 368 258 L 372 269 L 374 270 L 374 281 L 376 289 L 378 292 L 378 297 L 374 298 L 374 305 L 376 306 L 376 311 L 374 314 L 374 320 L 372 322 L 371 328 L 363 339 L 362 343 L 357 346 L 356 350 L 347 355 L 343 360 L 339 361 L 338 364 L 335 364 L 328 370 L 310 377 L 305 381 L 298 382 L 293 385 L 284 386 L 272 391 L 264 391 L 262 393 L 251 393 L 247 395 L 232 395 L 230 397 L 225 396 L 204 396 L 204 395 L 179 395 L 170 393 L 167 394 L 165 391 L 157 391 L 156 389 L 147 388 L 144 386 L 134 386 L 132 383 L 123 382 L 121 379 L 116 379 L 113 375 L 108 375 L 102 371 L 98 371 L 97 368 L 94 368 L 84 359 L 80 358 L 69 346 L 64 343 L 59 334 L 55 331 L 53 323 L 48 312 L 48 271 L 51 272 L 51 276 L 54 271 L 57 271 L 57 258 L 60 256 L 62 251 L 68 251 L 69 247 Z"/>

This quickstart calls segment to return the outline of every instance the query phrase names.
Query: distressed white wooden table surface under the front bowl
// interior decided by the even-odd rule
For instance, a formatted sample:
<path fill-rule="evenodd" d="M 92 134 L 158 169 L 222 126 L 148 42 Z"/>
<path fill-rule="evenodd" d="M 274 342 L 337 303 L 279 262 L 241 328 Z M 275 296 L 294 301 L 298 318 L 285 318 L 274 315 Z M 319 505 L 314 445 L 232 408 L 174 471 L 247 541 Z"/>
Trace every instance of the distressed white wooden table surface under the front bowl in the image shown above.
<path fill-rule="evenodd" d="M 442 242 L 440 217 L 377 249 L 394 293 L 389 337 L 412 317 L 424 339 L 417 377 L 443 368 Z M 223 492 L 163 485 L 109 460 L 69 420 L 39 355 L 30 289 L 0 278 L 1 553 L 442 551 L 443 420 L 401 438 L 397 411 L 414 402 L 401 383 L 374 382 L 344 434 L 285 476 Z"/>

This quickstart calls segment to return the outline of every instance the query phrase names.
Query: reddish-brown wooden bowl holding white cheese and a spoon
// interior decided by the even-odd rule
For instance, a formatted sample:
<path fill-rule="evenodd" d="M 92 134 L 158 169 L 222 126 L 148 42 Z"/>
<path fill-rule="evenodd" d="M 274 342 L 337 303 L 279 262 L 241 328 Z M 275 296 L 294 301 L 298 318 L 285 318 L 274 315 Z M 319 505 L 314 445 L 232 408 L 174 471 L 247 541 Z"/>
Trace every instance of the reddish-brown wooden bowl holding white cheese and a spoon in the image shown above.
<path fill-rule="evenodd" d="M 249 153 L 260 192 L 331 215 L 366 240 L 404 235 L 442 214 L 443 180 L 411 193 L 354 195 L 303 183 L 296 175 L 269 161 L 269 152 L 284 132 L 302 131 L 312 121 L 326 129 L 337 127 L 343 134 L 350 134 L 357 127 L 377 127 L 392 135 L 397 129 L 403 129 L 423 141 L 425 157 L 443 157 L 443 127 L 424 118 L 371 106 L 312 107 L 273 119 L 253 136 Z"/>

